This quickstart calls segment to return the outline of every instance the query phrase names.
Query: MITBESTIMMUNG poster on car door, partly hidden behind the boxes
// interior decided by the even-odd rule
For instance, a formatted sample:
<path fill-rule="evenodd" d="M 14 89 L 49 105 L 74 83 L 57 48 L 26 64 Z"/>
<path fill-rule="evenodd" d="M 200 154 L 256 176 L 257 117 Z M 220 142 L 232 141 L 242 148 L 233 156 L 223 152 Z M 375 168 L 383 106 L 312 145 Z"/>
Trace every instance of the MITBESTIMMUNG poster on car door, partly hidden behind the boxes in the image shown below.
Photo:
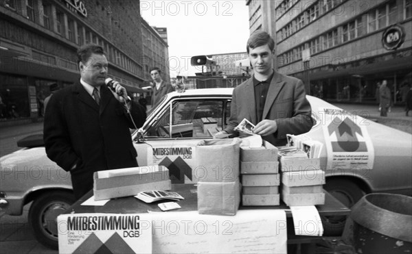
<path fill-rule="evenodd" d="M 169 169 L 172 183 L 196 183 L 196 144 L 199 140 L 163 140 L 148 147 L 148 165 Z"/>

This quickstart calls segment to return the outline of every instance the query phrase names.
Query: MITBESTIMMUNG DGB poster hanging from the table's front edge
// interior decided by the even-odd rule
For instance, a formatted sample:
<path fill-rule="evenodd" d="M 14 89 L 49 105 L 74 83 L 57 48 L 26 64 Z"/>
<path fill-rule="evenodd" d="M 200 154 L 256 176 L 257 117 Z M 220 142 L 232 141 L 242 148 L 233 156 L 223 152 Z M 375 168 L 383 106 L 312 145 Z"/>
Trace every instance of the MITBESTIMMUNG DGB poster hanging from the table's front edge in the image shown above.
<path fill-rule="evenodd" d="M 152 253 L 148 214 L 62 214 L 59 253 Z"/>

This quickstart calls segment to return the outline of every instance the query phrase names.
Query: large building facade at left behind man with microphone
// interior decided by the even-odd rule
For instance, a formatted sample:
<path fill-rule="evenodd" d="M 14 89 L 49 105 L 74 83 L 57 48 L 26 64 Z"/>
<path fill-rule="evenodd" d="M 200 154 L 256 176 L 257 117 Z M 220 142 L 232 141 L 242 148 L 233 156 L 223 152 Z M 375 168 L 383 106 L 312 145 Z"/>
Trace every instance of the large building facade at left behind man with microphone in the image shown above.
<path fill-rule="evenodd" d="M 77 49 L 101 45 L 109 77 L 137 96 L 144 85 L 139 1 L 0 1 L 0 122 L 44 114 L 50 86 L 79 79 Z M 164 49 L 163 49 L 164 51 Z"/>

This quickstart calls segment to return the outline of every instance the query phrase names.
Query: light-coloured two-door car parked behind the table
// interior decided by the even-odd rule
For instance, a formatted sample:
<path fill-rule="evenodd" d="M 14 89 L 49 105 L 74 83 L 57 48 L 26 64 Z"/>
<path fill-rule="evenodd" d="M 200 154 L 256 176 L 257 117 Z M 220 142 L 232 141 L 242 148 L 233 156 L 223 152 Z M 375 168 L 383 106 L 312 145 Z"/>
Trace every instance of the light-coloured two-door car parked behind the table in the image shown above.
<path fill-rule="evenodd" d="M 163 165 L 172 183 L 196 183 L 196 144 L 225 128 L 233 88 L 207 88 L 166 94 L 148 112 L 131 138 L 140 166 Z M 412 194 L 411 134 L 351 114 L 317 97 L 307 96 L 314 126 L 298 137 L 319 140 L 324 189 L 351 207 L 364 194 Z M 33 202 L 29 220 L 36 239 L 56 248 L 56 218 L 75 201 L 69 173 L 47 158 L 40 138 L 27 138 L 24 148 L 0 158 L 0 205 L 6 214 L 21 215 Z M 39 139 L 37 139 L 38 141 Z M 325 234 L 341 233 L 345 218 L 323 219 Z"/>

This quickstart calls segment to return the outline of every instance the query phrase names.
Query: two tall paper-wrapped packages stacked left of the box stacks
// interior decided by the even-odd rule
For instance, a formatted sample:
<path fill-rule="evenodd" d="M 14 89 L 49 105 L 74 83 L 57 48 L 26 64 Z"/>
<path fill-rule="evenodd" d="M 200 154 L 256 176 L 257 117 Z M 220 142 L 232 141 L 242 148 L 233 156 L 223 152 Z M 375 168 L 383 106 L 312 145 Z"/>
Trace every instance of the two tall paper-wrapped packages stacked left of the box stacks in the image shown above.
<path fill-rule="evenodd" d="M 203 140 L 196 146 L 199 214 L 235 215 L 240 204 L 239 138 Z"/>

